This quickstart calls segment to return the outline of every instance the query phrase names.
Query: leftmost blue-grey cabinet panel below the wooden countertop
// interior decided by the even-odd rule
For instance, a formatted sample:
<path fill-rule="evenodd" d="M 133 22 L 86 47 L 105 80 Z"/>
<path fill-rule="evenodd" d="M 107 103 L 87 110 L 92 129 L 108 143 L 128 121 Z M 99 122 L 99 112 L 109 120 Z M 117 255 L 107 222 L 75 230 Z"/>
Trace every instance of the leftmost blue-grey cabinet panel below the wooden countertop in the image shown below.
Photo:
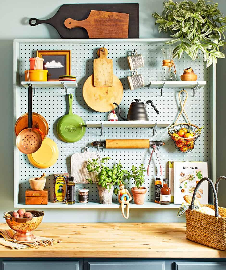
<path fill-rule="evenodd" d="M 78 270 L 76 262 L 3 261 L 2 270 Z"/>

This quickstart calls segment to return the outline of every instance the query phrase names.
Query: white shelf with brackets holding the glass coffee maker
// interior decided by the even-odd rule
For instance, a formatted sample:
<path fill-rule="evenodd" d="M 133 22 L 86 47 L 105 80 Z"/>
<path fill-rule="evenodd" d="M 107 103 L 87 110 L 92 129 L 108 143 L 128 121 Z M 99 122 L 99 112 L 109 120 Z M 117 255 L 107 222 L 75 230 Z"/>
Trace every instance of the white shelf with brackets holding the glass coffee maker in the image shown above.
<path fill-rule="evenodd" d="M 151 81 L 149 87 L 159 88 L 161 96 L 163 95 L 164 88 L 189 88 L 193 89 L 192 97 L 194 97 L 197 90 L 206 84 L 206 81 Z"/>

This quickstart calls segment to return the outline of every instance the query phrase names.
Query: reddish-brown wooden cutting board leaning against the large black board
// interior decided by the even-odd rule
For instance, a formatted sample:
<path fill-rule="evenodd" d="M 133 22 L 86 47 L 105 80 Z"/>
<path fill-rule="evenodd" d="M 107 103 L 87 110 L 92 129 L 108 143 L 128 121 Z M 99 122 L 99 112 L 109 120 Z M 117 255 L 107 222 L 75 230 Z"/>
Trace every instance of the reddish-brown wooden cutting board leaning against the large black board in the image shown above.
<path fill-rule="evenodd" d="M 67 18 L 64 25 L 68 29 L 85 28 L 89 38 L 128 38 L 129 14 L 91 10 L 87 19 Z"/>

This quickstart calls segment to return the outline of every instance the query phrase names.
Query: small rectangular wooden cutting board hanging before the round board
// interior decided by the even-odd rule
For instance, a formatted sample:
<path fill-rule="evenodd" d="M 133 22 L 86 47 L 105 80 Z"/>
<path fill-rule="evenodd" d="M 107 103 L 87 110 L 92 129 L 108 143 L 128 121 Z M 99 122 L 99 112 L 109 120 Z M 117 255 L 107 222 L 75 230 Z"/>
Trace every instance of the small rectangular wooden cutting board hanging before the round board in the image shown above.
<path fill-rule="evenodd" d="M 107 58 L 106 48 L 97 51 L 99 58 L 93 61 L 93 84 L 96 87 L 108 87 L 113 84 L 113 60 Z"/>

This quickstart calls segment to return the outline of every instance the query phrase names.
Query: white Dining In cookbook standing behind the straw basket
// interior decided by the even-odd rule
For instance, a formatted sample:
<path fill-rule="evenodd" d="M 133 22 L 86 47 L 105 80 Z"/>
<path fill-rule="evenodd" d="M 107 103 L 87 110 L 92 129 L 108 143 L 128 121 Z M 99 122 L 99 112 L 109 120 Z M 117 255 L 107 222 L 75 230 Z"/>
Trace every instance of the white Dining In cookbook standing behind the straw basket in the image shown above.
<path fill-rule="evenodd" d="M 203 178 L 208 177 L 207 162 L 173 162 L 174 203 L 184 202 L 184 195 L 192 196 L 196 184 Z M 208 182 L 204 181 L 197 193 L 196 198 L 201 204 L 208 204 Z"/>

